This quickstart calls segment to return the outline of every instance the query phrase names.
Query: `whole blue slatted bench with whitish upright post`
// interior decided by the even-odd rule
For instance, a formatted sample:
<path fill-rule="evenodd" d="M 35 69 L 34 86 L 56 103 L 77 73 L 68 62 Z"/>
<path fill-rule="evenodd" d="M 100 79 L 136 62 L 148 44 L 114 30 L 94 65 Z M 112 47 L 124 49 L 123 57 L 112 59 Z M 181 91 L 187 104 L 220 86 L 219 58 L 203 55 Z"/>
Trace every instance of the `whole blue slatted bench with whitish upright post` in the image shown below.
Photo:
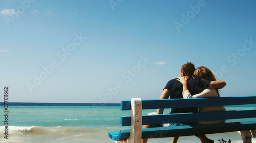
<path fill-rule="evenodd" d="M 116 142 L 137 143 L 141 142 L 141 138 L 146 137 L 160 138 L 252 130 L 256 128 L 256 120 L 253 119 L 256 118 L 256 109 L 226 110 L 197 113 L 189 112 L 142 116 L 142 109 L 169 109 L 246 104 L 256 104 L 256 96 L 163 100 L 141 100 L 140 98 L 133 98 L 131 101 L 121 101 L 121 110 L 131 110 L 131 116 L 121 117 L 121 126 L 131 126 L 131 130 L 125 129 L 117 132 L 109 132 L 109 137 L 115 140 Z M 237 121 L 237 119 L 245 118 L 252 119 L 247 121 Z M 227 121 L 226 123 L 218 124 L 186 125 L 176 127 L 156 127 L 142 129 L 142 125 L 163 123 L 186 123 L 213 120 Z"/>

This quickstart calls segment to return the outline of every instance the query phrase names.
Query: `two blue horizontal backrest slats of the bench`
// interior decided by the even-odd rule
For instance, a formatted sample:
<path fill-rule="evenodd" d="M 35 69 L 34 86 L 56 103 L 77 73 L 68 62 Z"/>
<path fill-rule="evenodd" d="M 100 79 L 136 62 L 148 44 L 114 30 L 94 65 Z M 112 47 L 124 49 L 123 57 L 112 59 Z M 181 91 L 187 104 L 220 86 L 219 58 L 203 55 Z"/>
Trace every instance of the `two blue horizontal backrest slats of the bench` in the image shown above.
<path fill-rule="evenodd" d="M 142 109 L 186 108 L 247 104 L 256 104 L 256 96 L 142 100 Z M 121 101 L 121 110 L 131 110 L 131 101 Z M 142 125 L 228 120 L 242 118 L 256 118 L 256 109 L 142 116 Z M 121 126 L 130 125 L 131 116 L 121 117 Z"/>

